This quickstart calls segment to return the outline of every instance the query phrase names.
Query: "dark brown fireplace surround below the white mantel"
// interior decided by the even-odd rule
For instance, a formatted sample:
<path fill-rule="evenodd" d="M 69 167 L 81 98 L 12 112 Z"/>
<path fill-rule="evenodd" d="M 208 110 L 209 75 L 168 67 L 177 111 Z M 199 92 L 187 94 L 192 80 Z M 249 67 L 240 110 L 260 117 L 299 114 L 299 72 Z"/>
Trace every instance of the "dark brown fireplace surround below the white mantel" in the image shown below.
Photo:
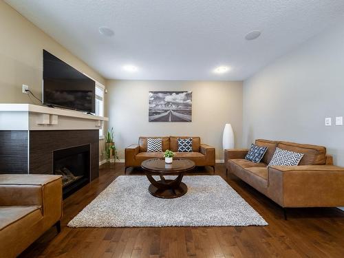
<path fill-rule="evenodd" d="M 0 131 L 0 173 L 54 174 L 54 151 L 85 144 L 92 181 L 99 176 L 98 130 Z"/>

